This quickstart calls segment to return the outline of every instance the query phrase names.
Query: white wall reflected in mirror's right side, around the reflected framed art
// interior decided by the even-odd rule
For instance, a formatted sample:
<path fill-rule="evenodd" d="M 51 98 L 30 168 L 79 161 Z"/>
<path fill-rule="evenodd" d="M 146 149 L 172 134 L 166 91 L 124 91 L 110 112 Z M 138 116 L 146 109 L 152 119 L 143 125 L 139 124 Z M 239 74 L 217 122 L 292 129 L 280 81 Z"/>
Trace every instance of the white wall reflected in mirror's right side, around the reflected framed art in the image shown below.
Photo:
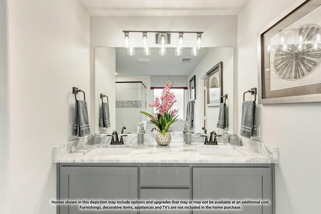
<path fill-rule="evenodd" d="M 223 62 L 223 93 L 228 94 L 228 99 L 226 104 L 229 108 L 229 133 L 234 133 L 233 118 L 237 118 L 233 113 L 234 103 L 237 102 L 234 96 L 234 48 L 212 48 L 200 62 L 200 64 L 194 69 L 190 77 L 195 75 L 196 78 L 196 101 L 195 101 L 195 125 L 197 127 L 197 132 L 202 132 L 202 127 L 204 125 L 203 121 L 203 76 L 211 68 L 213 68 L 219 62 Z M 219 114 L 219 106 L 207 107 L 207 129 L 209 131 L 218 130 L 216 127 Z M 235 121 L 234 126 L 237 126 L 237 121 Z"/>

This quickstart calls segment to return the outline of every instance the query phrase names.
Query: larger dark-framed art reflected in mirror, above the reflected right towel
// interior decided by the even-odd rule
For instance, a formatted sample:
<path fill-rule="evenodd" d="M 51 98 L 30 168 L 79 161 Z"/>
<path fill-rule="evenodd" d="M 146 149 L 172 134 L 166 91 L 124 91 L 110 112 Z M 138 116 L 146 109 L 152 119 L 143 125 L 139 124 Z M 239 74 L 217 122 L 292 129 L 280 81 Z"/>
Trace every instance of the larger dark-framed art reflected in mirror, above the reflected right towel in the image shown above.
<path fill-rule="evenodd" d="M 219 106 L 223 95 L 223 63 L 219 62 L 206 73 L 207 106 Z"/>

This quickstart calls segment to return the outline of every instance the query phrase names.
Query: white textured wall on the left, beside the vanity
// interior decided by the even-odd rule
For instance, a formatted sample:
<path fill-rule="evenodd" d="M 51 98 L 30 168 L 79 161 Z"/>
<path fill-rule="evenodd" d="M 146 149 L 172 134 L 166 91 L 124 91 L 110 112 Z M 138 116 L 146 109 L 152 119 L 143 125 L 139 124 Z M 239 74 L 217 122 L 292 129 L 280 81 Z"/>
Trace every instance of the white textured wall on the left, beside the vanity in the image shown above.
<path fill-rule="evenodd" d="M 90 100 L 89 16 L 76 0 L 8 1 L 7 15 L 8 207 L 0 212 L 56 213 L 52 148 L 72 139 L 72 87 Z"/>

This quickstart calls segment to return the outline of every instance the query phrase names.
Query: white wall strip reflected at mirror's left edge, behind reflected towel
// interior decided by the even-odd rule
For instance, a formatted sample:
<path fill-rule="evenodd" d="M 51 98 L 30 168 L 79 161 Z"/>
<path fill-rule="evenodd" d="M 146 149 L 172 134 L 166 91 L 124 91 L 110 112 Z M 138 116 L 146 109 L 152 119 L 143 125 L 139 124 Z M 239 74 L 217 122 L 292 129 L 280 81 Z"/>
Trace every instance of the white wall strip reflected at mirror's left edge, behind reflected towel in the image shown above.
<path fill-rule="evenodd" d="M 95 97 L 95 119 L 92 119 L 91 127 L 99 130 L 99 113 L 101 106 L 100 94 L 108 96 L 110 128 L 108 132 L 112 132 L 116 128 L 116 89 L 115 89 L 115 71 L 116 71 L 116 53 L 115 48 L 95 48 L 95 91 L 92 94 Z M 103 98 L 106 102 L 106 97 Z M 92 132 L 94 132 L 92 130 Z"/>

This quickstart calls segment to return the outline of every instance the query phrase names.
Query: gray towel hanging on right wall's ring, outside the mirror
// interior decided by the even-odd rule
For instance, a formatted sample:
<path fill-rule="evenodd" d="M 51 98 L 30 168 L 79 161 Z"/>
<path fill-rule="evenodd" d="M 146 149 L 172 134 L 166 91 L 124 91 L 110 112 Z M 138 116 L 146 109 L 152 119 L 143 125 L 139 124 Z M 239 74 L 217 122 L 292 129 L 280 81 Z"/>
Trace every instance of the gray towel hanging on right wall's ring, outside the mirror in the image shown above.
<path fill-rule="evenodd" d="M 254 101 L 242 103 L 242 119 L 240 135 L 246 138 L 257 136 L 256 104 Z"/>

